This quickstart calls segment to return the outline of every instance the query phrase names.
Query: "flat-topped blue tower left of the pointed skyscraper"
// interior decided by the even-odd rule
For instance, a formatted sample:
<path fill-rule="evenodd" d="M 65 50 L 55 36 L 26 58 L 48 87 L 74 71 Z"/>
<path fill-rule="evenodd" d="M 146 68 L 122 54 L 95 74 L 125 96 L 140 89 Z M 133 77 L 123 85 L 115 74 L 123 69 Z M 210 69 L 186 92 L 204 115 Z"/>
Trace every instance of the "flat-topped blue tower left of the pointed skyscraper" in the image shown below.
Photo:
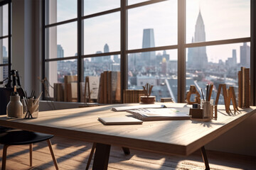
<path fill-rule="evenodd" d="M 153 28 L 143 30 L 142 48 L 149 47 L 155 47 Z M 154 65 L 156 63 L 156 52 L 142 52 L 142 61 L 149 66 Z"/>

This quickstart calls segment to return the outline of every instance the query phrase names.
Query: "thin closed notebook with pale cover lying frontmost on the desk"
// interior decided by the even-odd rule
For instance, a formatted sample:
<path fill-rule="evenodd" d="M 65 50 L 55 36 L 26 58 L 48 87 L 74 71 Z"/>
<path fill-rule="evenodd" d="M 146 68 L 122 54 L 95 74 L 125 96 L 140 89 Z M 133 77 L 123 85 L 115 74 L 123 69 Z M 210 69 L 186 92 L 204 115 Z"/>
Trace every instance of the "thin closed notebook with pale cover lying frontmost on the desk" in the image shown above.
<path fill-rule="evenodd" d="M 104 125 L 141 125 L 142 120 L 128 116 L 120 117 L 100 117 L 98 118 Z"/>

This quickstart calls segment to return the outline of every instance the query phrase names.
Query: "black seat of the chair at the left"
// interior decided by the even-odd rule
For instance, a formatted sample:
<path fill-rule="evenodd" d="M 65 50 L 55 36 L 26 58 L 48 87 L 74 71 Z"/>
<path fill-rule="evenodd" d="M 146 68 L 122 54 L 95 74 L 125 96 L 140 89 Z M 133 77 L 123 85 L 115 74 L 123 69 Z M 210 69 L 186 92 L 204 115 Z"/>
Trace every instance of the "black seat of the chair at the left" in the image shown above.
<path fill-rule="evenodd" d="M 0 133 L 0 144 L 2 145 L 28 145 L 36 142 L 49 140 L 53 135 L 40 132 L 29 132 L 26 130 L 8 130 Z"/>

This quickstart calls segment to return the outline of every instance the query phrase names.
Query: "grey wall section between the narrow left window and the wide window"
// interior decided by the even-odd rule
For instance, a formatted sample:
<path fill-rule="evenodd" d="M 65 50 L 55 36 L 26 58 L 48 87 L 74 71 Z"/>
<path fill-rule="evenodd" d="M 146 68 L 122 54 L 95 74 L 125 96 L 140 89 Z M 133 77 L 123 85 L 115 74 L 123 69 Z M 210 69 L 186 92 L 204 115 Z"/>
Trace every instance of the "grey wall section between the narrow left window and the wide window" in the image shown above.
<path fill-rule="evenodd" d="M 12 1 L 12 66 L 28 94 L 38 95 L 41 83 L 41 1 Z"/>

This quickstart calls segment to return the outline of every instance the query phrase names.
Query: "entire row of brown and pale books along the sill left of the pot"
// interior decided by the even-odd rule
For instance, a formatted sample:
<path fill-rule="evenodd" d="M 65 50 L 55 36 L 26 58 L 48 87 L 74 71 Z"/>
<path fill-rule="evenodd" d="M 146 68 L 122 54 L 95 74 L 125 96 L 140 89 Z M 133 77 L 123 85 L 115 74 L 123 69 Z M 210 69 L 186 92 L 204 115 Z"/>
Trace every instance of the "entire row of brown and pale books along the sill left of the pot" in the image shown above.
<path fill-rule="evenodd" d="M 125 89 L 123 103 L 139 103 L 143 90 Z M 64 83 L 54 84 L 54 101 L 78 101 L 78 76 L 65 76 Z M 85 77 L 80 82 L 80 101 L 121 103 L 120 72 L 105 71 L 100 77 Z"/>

